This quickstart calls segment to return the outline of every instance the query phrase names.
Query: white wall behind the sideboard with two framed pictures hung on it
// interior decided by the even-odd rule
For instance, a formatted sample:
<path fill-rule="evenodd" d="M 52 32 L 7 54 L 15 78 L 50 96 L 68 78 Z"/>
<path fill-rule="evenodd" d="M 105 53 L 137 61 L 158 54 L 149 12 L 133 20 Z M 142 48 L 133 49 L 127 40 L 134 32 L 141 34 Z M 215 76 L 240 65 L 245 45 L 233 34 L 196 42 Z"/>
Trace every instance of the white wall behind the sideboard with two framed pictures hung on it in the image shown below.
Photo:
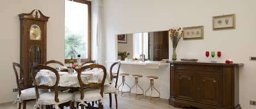
<path fill-rule="evenodd" d="M 254 0 L 105 0 L 106 60 L 116 60 L 117 34 L 204 25 L 204 40 L 178 43 L 178 59 L 211 60 L 206 59 L 205 51 L 221 50 L 221 59 L 215 60 L 245 63 L 240 69 L 240 104 L 242 108 L 255 108 L 249 105 L 249 100 L 256 100 L 256 62 L 249 61 L 249 56 L 256 56 L 255 4 Z M 223 14 L 236 14 L 236 29 L 212 30 L 212 17 Z"/>

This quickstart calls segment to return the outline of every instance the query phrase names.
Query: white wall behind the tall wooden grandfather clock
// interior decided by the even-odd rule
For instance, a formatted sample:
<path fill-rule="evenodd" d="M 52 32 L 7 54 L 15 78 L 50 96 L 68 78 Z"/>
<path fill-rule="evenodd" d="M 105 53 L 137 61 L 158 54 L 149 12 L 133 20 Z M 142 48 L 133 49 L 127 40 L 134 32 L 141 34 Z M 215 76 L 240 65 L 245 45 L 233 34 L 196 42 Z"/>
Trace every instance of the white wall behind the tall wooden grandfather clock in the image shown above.
<path fill-rule="evenodd" d="M 47 60 L 64 62 L 64 1 L 4 0 L 0 3 L 0 103 L 17 99 L 12 62 L 20 62 L 19 14 L 39 9 L 49 16 L 47 23 Z"/>

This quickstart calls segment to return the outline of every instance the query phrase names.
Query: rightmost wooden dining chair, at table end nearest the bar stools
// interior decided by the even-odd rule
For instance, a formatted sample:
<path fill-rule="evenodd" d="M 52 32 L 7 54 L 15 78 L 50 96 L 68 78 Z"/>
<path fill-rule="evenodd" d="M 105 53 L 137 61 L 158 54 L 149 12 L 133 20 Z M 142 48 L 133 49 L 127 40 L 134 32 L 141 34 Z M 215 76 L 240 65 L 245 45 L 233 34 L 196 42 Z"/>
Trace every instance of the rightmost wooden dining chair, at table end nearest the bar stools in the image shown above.
<path fill-rule="evenodd" d="M 116 75 L 113 74 L 113 68 L 114 66 L 118 66 Z M 118 80 L 118 74 L 120 70 L 121 63 L 120 62 L 115 62 L 110 66 L 110 85 L 105 85 L 104 86 L 104 93 L 109 94 L 109 107 L 112 108 L 112 94 L 115 94 L 115 100 L 116 100 L 116 109 L 117 109 L 117 80 Z M 115 85 L 111 85 L 112 81 L 116 79 Z"/>

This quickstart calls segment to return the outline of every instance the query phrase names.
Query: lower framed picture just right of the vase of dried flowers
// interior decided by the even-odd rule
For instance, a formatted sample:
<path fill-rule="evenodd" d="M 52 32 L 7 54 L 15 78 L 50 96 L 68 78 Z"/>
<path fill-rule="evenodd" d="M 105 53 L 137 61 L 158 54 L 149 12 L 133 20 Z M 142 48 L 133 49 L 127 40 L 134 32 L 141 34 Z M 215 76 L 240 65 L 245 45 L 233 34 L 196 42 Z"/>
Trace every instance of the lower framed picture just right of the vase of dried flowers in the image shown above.
<path fill-rule="evenodd" d="M 204 39 L 204 26 L 197 26 L 197 27 L 184 27 L 184 40 L 188 39 Z"/>

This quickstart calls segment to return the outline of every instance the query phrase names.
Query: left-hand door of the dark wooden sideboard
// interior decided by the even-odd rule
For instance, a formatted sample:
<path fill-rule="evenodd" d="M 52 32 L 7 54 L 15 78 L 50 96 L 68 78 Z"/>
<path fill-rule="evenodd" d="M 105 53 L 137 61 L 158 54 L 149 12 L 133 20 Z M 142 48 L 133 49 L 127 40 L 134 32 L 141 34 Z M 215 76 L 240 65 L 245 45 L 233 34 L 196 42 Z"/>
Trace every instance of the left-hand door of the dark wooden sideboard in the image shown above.
<path fill-rule="evenodd" d="M 177 72 L 176 79 L 176 98 L 195 101 L 197 79 L 194 73 Z"/>

